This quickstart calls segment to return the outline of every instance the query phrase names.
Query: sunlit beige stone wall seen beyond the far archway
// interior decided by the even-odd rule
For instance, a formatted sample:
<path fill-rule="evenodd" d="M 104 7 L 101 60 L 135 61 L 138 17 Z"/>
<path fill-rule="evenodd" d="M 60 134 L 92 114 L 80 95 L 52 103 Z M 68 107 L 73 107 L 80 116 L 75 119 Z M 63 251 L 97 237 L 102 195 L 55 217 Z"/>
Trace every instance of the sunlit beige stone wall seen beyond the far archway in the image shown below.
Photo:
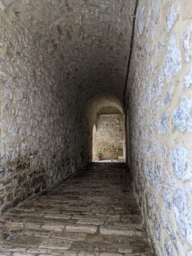
<path fill-rule="evenodd" d="M 97 153 L 102 154 L 102 159 L 123 156 L 123 134 L 123 115 L 99 115 L 93 133 L 93 161 L 97 159 Z"/>

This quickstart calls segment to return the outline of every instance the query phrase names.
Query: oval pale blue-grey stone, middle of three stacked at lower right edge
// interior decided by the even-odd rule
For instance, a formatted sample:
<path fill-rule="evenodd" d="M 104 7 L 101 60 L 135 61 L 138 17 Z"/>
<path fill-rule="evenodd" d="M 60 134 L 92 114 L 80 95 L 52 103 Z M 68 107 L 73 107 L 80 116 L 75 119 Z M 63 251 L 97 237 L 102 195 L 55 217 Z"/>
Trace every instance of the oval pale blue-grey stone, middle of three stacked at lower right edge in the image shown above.
<path fill-rule="evenodd" d="M 184 147 L 174 147 L 171 150 L 171 162 L 175 175 L 183 181 L 191 178 L 191 161 L 189 152 Z"/>

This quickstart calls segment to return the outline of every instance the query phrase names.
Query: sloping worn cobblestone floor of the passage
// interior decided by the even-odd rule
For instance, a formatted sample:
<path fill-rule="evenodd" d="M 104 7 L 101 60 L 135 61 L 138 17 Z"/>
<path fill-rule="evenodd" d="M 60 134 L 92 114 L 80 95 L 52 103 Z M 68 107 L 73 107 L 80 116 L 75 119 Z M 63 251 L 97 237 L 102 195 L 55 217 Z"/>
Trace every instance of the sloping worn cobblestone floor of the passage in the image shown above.
<path fill-rule="evenodd" d="M 91 164 L 6 212 L 0 228 L 0 255 L 154 255 L 120 163 Z"/>

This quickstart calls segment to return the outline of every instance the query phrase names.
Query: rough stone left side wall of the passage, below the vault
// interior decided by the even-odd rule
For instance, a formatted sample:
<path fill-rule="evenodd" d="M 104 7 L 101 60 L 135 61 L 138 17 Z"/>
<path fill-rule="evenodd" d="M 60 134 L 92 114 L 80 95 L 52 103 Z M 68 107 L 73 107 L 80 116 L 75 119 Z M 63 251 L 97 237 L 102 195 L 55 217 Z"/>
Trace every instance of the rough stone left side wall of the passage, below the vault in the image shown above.
<path fill-rule="evenodd" d="M 10 6 L 0 1 L 2 212 L 65 178 L 91 156 L 77 90 L 63 81 L 65 70 L 50 65 L 52 56 Z"/>

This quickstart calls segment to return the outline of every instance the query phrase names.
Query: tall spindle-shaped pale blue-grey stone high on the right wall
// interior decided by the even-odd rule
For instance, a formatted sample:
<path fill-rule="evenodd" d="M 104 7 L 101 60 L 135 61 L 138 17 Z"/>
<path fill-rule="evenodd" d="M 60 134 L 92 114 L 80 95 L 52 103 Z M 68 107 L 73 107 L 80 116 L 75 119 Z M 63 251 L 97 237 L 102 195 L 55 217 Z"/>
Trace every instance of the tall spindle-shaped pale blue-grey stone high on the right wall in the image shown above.
<path fill-rule="evenodd" d="M 168 82 L 179 72 L 181 67 L 180 51 L 177 47 L 175 34 L 173 34 L 170 38 L 168 51 L 164 58 L 164 73 Z"/>

